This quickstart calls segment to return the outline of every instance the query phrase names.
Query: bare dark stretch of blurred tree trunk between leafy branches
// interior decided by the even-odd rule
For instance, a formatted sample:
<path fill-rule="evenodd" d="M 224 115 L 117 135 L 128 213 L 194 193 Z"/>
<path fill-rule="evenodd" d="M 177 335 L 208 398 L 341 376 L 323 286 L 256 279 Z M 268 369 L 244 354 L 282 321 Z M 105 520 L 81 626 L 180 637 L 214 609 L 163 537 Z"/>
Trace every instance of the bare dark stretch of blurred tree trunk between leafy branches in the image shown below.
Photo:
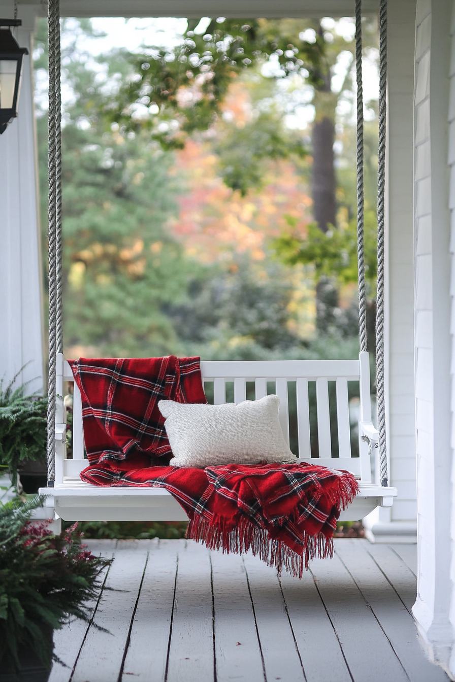
<path fill-rule="evenodd" d="M 313 216 L 323 232 L 336 226 L 334 121 L 325 116 L 313 123 Z"/>

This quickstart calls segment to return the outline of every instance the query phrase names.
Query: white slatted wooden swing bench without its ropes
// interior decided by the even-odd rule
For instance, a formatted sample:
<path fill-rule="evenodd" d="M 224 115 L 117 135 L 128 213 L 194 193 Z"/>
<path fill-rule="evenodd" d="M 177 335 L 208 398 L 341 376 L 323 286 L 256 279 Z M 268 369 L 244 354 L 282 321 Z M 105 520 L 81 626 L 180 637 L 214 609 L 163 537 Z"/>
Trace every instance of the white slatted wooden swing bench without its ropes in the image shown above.
<path fill-rule="evenodd" d="M 280 396 L 280 424 L 289 443 L 288 383 L 295 383 L 297 397 L 297 462 L 321 464 L 329 469 L 351 471 L 359 492 L 340 520 L 361 520 L 376 507 L 392 507 L 396 488 L 383 488 L 379 478 L 379 433 L 371 421 L 370 366 L 368 353 L 358 360 L 254 360 L 202 361 L 205 390 L 213 385 L 214 403 L 226 402 L 226 383 L 233 383 L 234 402 L 246 400 L 247 382 L 254 383 L 255 400 L 269 393 Z M 333 451 L 329 414 L 329 381 L 336 382 L 338 453 Z M 359 384 L 359 456 L 351 454 L 348 381 Z M 72 458 L 66 451 L 66 418 L 63 408 L 64 382 L 73 382 Z M 308 383 L 316 386 L 317 443 L 310 432 Z M 250 385 L 251 386 L 251 385 Z M 82 402 L 74 376 L 63 355 L 57 355 L 55 423 L 55 487 L 40 488 L 46 507 L 65 521 L 186 521 L 184 510 L 164 488 L 102 488 L 83 483 L 80 472 L 88 466 L 85 458 Z M 319 456 L 311 456 L 311 446 Z M 334 456 L 335 455 L 335 456 Z M 338 456 L 337 456 L 338 455 Z"/>

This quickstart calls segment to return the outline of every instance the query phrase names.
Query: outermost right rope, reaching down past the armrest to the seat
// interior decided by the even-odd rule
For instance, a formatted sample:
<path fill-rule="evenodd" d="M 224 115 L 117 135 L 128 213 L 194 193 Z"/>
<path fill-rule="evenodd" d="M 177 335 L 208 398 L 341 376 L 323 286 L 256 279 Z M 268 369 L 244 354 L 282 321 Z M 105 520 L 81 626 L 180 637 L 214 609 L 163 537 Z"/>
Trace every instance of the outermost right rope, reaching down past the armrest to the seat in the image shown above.
<path fill-rule="evenodd" d="M 376 310 L 376 385 L 381 486 L 387 486 L 384 391 L 385 132 L 387 113 L 387 0 L 379 8 L 378 278 Z"/>

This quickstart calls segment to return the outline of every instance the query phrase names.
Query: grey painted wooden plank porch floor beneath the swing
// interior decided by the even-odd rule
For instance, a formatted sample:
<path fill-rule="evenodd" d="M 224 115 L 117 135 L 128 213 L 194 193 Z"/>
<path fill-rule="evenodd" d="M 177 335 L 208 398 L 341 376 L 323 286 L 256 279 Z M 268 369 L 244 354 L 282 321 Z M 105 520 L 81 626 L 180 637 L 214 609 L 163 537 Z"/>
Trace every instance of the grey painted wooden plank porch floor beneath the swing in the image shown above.
<path fill-rule="evenodd" d="M 416 546 L 337 539 L 296 580 L 186 540 L 87 544 L 115 560 L 91 622 L 55 633 L 50 682 L 448 681 L 411 616 Z"/>

